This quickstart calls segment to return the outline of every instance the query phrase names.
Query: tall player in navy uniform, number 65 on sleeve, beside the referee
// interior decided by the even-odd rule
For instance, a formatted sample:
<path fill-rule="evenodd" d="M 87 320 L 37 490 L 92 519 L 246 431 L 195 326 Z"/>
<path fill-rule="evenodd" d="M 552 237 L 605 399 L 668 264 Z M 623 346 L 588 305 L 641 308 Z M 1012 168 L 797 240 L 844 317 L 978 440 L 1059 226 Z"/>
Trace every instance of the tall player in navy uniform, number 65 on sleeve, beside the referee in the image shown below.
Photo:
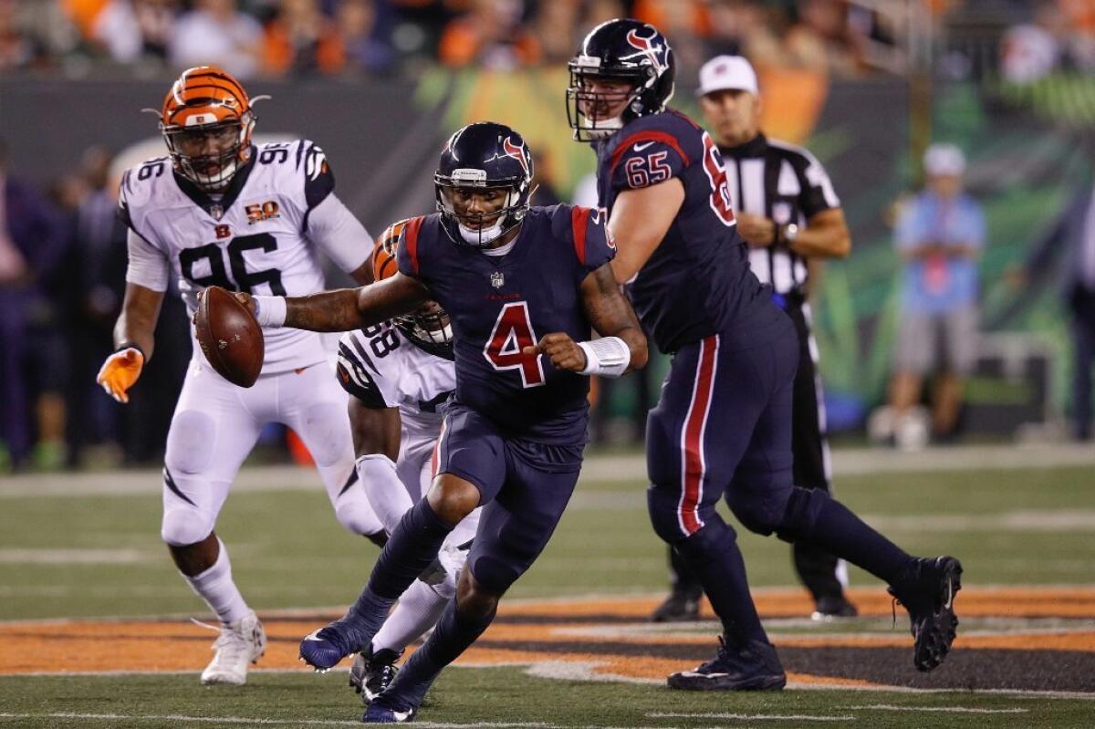
<path fill-rule="evenodd" d="M 724 497 L 746 528 L 814 544 L 886 580 L 909 611 L 917 668 L 935 668 L 955 636 L 961 566 L 913 558 L 825 490 L 794 486 L 797 335 L 749 270 L 718 148 L 666 108 L 669 43 L 653 25 L 608 21 L 586 36 L 569 69 L 570 127 L 597 152 L 598 194 L 619 242 L 612 268 L 655 344 L 673 356 L 646 429 L 650 519 L 700 578 L 724 627 L 715 659 L 673 673 L 669 685 L 786 683 L 736 534 L 715 511 Z"/>

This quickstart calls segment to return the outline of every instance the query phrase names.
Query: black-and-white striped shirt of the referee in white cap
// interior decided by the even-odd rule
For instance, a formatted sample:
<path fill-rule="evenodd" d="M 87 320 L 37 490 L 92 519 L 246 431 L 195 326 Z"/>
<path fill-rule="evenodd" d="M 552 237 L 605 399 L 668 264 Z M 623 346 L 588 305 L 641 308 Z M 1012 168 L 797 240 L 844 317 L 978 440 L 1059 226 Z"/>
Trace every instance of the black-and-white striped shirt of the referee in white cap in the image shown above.
<path fill-rule="evenodd" d="M 811 217 L 840 207 L 821 163 L 802 147 L 758 135 L 739 147 L 719 147 L 734 209 L 761 215 L 776 225 L 806 225 Z M 805 294 L 806 259 L 782 240 L 749 250 L 749 264 L 761 284 L 776 293 Z"/>

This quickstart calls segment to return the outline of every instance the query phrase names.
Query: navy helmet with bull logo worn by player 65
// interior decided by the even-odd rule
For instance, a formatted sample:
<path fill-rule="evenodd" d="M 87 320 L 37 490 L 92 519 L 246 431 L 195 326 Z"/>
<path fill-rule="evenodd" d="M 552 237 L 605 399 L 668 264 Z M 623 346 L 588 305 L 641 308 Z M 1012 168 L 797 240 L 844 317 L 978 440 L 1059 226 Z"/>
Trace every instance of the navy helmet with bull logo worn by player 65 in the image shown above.
<path fill-rule="evenodd" d="M 601 23 L 581 42 L 567 63 L 566 116 L 578 141 L 609 137 L 627 121 L 665 111 L 673 95 L 677 61 L 666 36 L 649 23 L 616 19 Z M 593 80 L 623 81 L 619 92 L 595 91 Z M 609 118 L 590 109 L 622 111 Z"/>

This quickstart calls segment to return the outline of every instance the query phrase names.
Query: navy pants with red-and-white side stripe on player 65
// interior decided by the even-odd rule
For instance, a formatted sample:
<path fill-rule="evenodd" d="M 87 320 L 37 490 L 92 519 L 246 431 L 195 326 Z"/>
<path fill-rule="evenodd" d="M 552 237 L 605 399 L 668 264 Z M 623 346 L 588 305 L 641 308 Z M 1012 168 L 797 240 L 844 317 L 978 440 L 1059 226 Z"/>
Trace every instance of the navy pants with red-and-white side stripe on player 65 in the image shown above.
<path fill-rule="evenodd" d="M 677 352 L 646 427 L 650 518 L 661 539 L 699 532 L 724 496 L 750 530 L 780 526 L 794 485 L 797 369 L 798 338 L 786 320 L 761 344 L 716 334 Z"/>

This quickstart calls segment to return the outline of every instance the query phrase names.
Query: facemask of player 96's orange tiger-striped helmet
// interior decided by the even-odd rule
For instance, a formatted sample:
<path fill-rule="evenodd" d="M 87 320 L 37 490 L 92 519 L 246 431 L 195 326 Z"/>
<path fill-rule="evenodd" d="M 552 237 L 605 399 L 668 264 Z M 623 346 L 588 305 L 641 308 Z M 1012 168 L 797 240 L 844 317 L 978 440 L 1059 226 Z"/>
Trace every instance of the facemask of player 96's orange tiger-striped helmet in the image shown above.
<path fill-rule="evenodd" d="M 203 116 L 193 115 L 187 121 Z M 161 124 L 160 130 L 178 173 L 205 192 L 218 193 L 247 162 L 254 125 L 254 116 L 246 112 L 240 118 L 212 124 Z"/>

